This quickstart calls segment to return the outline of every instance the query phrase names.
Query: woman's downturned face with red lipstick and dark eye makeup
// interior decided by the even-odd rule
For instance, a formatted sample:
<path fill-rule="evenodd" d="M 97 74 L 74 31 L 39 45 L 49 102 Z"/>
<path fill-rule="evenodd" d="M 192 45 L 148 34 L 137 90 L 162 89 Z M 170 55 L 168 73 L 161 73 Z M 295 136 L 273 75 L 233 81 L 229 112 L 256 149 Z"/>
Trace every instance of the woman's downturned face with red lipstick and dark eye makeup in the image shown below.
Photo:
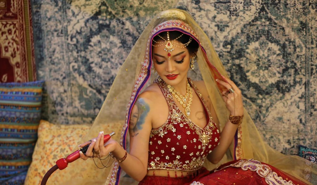
<path fill-rule="evenodd" d="M 159 41 L 162 42 L 162 41 Z M 175 43 L 183 44 L 179 41 L 173 41 L 174 50 L 171 51 L 171 59 L 168 59 L 168 52 L 164 50 L 165 44 L 152 47 L 152 61 L 159 76 L 169 85 L 175 86 L 187 80 L 187 72 L 191 62 L 191 56 L 187 48 L 178 48 Z"/>

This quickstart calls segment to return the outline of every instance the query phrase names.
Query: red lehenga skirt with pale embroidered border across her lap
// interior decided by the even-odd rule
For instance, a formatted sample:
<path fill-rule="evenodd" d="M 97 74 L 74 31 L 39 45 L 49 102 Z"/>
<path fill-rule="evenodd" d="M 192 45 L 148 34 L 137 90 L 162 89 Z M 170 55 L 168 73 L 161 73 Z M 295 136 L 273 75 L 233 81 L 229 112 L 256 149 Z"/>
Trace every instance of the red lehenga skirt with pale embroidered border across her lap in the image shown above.
<path fill-rule="evenodd" d="M 235 160 L 227 162 L 216 170 L 208 171 L 201 168 L 195 176 L 172 178 L 160 176 L 146 176 L 139 184 L 235 184 L 235 185 L 256 185 L 256 184 L 306 184 L 301 180 L 288 175 L 287 173 L 274 168 L 273 166 L 256 160 Z"/>

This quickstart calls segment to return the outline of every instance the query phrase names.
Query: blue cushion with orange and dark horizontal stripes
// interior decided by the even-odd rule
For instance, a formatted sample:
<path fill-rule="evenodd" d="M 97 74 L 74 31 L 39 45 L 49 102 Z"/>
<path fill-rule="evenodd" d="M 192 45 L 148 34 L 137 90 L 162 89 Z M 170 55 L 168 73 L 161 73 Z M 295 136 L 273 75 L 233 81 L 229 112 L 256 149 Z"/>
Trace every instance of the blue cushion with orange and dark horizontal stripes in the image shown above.
<path fill-rule="evenodd" d="M 43 83 L 0 83 L 0 184 L 24 183 L 41 119 Z"/>

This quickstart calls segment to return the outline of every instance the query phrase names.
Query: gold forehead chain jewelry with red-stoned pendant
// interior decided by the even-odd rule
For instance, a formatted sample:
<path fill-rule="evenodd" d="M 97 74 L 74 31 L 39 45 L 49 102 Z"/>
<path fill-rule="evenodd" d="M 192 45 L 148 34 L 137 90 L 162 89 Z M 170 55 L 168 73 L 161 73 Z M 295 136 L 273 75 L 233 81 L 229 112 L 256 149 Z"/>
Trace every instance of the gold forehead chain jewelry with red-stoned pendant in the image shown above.
<path fill-rule="evenodd" d="M 170 34 L 169 34 L 169 32 L 167 31 L 167 41 L 166 41 L 162 36 L 158 35 L 161 39 L 163 39 L 164 42 L 157 42 L 157 41 L 155 41 L 155 40 L 153 39 L 153 42 L 154 42 L 154 43 L 157 43 L 157 45 L 152 44 L 152 46 L 153 46 L 153 47 L 159 47 L 159 46 L 162 46 L 162 45 L 165 44 L 164 50 L 168 52 L 168 53 L 167 53 L 168 59 L 171 60 L 171 53 L 170 53 L 170 52 L 174 50 L 173 44 L 174 44 L 175 46 L 177 46 L 178 48 L 185 48 L 186 46 L 188 46 L 189 43 L 191 43 L 191 40 L 192 40 L 191 37 L 189 38 L 189 41 L 188 41 L 187 43 L 184 43 L 184 44 L 183 44 L 183 43 L 180 43 L 180 42 L 175 42 L 175 43 L 173 42 L 173 41 L 179 39 L 179 38 L 180 38 L 181 36 L 183 36 L 183 35 L 184 35 L 184 33 L 183 33 L 182 35 L 178 36 L 176 39 L 170 40 Z"/>

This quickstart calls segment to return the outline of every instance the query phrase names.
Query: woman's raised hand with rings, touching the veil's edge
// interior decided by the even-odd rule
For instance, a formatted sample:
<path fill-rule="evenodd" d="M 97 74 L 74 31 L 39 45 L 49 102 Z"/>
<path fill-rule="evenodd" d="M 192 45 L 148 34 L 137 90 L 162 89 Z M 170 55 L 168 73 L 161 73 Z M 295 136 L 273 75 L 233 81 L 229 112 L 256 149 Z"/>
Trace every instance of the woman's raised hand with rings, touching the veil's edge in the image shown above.
<path fill-rule="evenodd" d="M 216 79 L 216 81 L 228 89 L 228 91 L 223 91 L 221 93 L 223 101 L 226 102 L 227 109 L 230 111 L 232 116 L 243 116 L 241 90 L 229 78 L 224 76 L 223 78 L 227 80 L 228 83 L 222 81 L 221 79 Z M 230 92 L 230 88 L 232 88 L 235 92 Z"/>

